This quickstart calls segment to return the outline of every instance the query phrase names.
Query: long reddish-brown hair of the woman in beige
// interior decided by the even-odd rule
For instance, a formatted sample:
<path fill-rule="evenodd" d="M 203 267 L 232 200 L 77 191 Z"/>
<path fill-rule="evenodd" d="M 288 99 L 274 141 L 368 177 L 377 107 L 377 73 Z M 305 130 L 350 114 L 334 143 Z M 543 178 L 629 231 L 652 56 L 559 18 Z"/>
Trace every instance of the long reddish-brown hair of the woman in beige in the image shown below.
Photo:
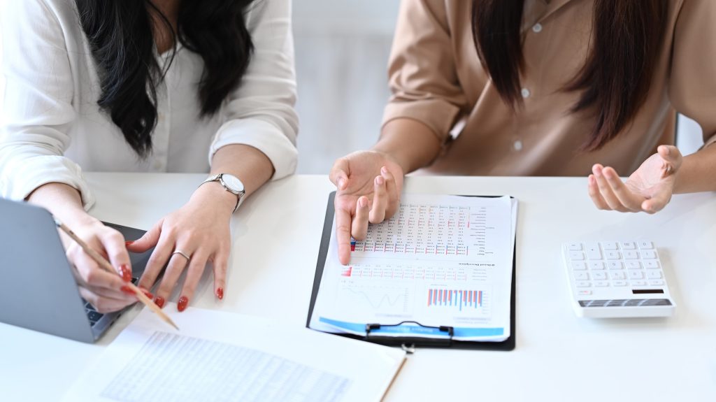
<path fill-rule="evenodd" d="M 473 37 L 480 62 L 511 107 L 521 105 L 524 0 L 473 0 Z M 583 150 L 616 137 L 647 99 L 662 44 L 666 0 L 594 0 L 591 49 L 563 89 L 582 91 L 571 112 L 594 107 L 596 123 Z"/>

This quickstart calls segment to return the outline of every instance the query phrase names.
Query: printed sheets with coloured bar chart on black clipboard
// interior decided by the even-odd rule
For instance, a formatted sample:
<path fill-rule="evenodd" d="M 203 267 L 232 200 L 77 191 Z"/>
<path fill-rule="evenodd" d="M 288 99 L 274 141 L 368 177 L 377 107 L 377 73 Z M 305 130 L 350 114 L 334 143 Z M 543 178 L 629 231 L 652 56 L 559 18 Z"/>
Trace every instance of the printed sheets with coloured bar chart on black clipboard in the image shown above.
<path fill-rule="evenodd" d="M 366 335 L 367 324 L 407 321 L 375 334 L 440 338 L 424 326 L 449 326 L 455 340 L 505 340 L 516 214 L 510 197 L 403 195 L 395 216 L 352 244 L 349 265 L 334 225 L 310 328 Z"/>

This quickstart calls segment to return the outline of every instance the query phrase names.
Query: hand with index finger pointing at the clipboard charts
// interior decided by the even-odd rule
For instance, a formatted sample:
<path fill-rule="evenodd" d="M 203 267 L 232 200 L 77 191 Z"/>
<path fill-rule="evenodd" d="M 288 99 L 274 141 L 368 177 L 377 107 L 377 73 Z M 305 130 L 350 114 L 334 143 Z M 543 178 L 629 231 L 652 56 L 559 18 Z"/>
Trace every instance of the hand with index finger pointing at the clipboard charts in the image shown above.
<path fill-rule="evenodd" d="M 400 206 L 403 170 L 387 154 L 359 151 L 337 160 L 329 175 L 336 185 L 336 233 L 338 258 L 351 258 L 351 236 L 363 240 L 368 222 L 392 217 Z"/>

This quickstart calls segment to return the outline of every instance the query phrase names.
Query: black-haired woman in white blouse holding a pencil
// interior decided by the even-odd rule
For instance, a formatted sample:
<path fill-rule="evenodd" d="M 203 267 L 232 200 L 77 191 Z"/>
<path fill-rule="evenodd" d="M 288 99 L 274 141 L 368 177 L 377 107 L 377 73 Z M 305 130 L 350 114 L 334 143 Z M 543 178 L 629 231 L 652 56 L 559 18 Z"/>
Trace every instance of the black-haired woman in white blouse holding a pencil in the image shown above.
<path fill-rule="evenodd" d="M 127 249 L 153 246 L 139 284 L 151 288 L 168 263 L 155 303 L 165 303 L 186 269 L 184 310 L 208 261 L 223 298 L 231 214 L 296 167 L 290 16 L 290 0 L 8 2 L 0 192 L 47 207 L 105 250 L 120 275 L 100 270 L 77 245 L 67 251 L 80 293 L 101 312 L 136 301 L 122 290 Z M 210 178 L 125 245 L 85 212 L 94 198 L 82 170 Z"/>

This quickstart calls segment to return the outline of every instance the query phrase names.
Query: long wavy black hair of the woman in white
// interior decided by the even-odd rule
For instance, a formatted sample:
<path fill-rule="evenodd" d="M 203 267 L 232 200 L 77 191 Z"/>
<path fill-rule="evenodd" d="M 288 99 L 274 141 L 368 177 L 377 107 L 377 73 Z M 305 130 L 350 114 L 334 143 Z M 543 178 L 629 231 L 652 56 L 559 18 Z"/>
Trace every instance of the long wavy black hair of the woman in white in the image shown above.
<path fill-rule="evenodd" d="M 97 64 L 102 94 L 97 104 L 110 114 L 140 157 L 152 150 L 157 122 L 156 87 L 174 57 L 177 41 L 204 62 L 198 83 L 201 116 L 214 114 L 246 72 L 253 42 L 244 13 L 252 0 L 181 0 L 177 29 L 150 0 L 75 0 L 79 22 Z M 174 44 L 162 71 L 154 55 L 152 14 Z"/>

